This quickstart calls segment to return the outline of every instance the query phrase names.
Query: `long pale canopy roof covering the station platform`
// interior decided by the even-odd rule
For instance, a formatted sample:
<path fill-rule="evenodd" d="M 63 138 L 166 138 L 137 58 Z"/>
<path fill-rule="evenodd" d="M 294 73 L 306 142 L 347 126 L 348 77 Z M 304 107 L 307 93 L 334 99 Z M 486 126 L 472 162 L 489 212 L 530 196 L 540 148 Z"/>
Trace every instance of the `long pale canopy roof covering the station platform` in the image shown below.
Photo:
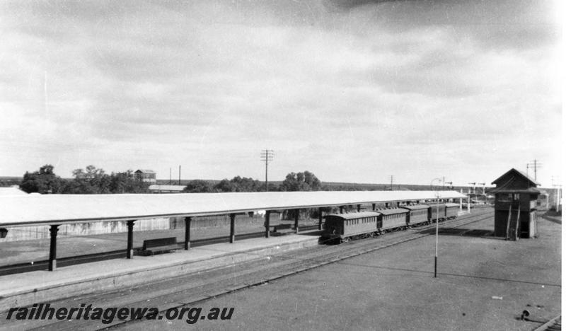
<path fill-rule="evenodd" d="M 204 216 L 258 210 L 463 198 L 455 191 L 323 191 L 181 194 L 47 194 L 0 197 L 0 226 Z"/>

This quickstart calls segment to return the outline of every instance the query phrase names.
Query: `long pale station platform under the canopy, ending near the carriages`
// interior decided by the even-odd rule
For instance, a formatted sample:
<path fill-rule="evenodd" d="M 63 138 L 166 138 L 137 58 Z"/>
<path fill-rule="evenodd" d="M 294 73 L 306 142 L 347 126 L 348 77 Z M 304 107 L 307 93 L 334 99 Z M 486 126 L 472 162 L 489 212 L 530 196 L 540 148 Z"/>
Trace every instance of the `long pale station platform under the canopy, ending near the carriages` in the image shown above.
<path fill-rule="evenodd" d="M 318 245 L 320 231 L 251 238 L 204 245 L 154 256 L 105 260 L 0 277 L 0 311 L 69 296 L 112 291 L 178 276 L 267 258 L 288 250 Z"/>

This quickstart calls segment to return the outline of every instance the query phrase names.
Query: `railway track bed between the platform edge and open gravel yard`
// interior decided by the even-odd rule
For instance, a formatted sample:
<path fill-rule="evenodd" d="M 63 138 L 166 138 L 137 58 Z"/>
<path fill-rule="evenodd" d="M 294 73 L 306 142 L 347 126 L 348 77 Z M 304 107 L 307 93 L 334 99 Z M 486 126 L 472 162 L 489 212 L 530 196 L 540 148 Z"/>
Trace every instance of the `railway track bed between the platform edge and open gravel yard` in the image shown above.
<path fill-rule="evenodd" d="M 458 227 L 475 223 L 492 217 L 492 211 L 483 214 L 463 216 L 453 221 L 441 223 L 441 227 Z M 367 252 L 391 247 L 410 240 L 430 236 L 434 224 L 412 228 L 408 231 L 386 233 L 385 236 L 353 240 L 340 245 L 318 245 L 308 250 L 296 250 L 282 255 L 258 256 L 257 260 L 234 264 L 230 267 L 219 267 L 207 272 L 187 274 L 183 277 L 158 281 L 115 292 L 114 294 L 92 294 L 81 298 L 73 298 L 74 302 L 120 301 L 121 306 L 157 307 L 160 314 L 169 308 L 195 306 L 209 298 L 229 294 L 233 291 L 267 284 L 292 274 L 328 265 Z M 67 305 L 69 306 L 69 305 Z M 144 320 L 115 320 L 110 325 L 96 325 L 92 321 L 71 320 L 51 325 L 42 325 L 42 330 L 73 330 L 76 328 L 113 328 L 132 327 Z"/>

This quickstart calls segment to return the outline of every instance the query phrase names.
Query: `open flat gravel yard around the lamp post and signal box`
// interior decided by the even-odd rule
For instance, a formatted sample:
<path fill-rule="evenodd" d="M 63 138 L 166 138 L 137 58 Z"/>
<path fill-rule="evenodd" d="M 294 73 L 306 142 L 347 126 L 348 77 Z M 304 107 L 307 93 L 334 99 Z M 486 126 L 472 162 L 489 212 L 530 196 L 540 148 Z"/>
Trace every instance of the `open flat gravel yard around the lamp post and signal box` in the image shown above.
<path fill-rule="evenodd" d="M 231 320 L 142 325 L 149 330 L 533 330 L 560 314 L 560 217 L 543 216 L 538 238 L 519 241 L 485 236 L 493 230 L 492 219 L 465 227 L 470 231 L 464 235 L 441 231 L 436 279 L 434 236 L 427 236 L 199 304 L 203 311 L 234 307 Z M 541 323 L 520 320 L 523 310 Z"/>

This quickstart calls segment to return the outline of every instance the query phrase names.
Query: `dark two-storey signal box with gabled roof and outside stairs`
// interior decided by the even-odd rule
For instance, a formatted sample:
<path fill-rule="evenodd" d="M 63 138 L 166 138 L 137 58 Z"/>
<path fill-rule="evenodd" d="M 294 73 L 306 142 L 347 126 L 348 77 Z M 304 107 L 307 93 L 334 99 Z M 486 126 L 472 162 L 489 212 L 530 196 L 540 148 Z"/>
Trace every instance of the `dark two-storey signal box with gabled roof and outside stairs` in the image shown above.
<path fill-rule="evenodd" d="M 538 183 L 525 173 L 511 169 L 492 182 L 495 188 L 495 236 L 516 240 L 536 236 Z"/>

